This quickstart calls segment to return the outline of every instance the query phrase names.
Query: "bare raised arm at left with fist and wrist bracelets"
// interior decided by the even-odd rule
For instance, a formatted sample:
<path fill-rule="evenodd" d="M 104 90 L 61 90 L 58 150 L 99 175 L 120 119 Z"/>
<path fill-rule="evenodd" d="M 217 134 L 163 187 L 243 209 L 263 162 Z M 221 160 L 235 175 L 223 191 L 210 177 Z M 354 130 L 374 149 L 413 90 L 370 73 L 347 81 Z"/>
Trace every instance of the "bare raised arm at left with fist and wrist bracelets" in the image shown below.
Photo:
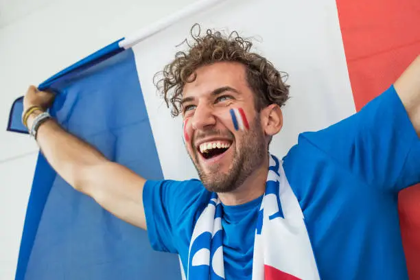
<path fill-rule="evenodd" d="M 53 99 L 51 93 L 30 86 L 23 100 L 23 112 L 32 106 L 46 109 Z M 40 113 L 43 112 L 36 110 L 28 117 L 29 128 Z M 52 119 L 40 125 L 37 142 L 49 164 L 74 189 L 91 196 L 118 218 L 146 229 L 144 178 L 123 165 L 108 161 L 99 151 L 66 132 Z"/>

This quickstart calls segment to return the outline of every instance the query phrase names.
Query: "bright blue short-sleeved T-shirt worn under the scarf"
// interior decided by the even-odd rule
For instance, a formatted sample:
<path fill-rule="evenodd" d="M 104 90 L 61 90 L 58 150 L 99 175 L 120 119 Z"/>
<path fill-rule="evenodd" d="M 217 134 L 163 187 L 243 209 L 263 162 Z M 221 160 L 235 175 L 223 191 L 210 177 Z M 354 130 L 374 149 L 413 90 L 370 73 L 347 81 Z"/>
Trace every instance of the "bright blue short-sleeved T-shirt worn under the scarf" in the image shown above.
<path fill-rule="evenodd" d="M 420 182 L 420 140 L 393 86 L 359 113 L 305 132 L 283 158 L 321 279 L 408 279 L 397 194 Z M 209 202 L 199 180 L 148 181 L 143 203 L 152 247 L 180 255 Z M 261 199 L 223 207 L 226 279 L 251 279 Z"/>

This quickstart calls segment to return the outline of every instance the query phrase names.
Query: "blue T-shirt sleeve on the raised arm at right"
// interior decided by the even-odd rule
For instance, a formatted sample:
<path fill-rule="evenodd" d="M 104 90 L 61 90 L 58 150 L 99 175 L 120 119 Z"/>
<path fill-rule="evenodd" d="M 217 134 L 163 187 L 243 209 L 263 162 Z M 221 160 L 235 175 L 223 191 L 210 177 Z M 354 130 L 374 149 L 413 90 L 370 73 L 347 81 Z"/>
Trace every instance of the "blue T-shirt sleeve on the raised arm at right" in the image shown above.
<path fill-rule="evenodd" d="M 420 182 L 420 140 L 394 86 L 308 141 L 364 183 L 399 191 Z"/>

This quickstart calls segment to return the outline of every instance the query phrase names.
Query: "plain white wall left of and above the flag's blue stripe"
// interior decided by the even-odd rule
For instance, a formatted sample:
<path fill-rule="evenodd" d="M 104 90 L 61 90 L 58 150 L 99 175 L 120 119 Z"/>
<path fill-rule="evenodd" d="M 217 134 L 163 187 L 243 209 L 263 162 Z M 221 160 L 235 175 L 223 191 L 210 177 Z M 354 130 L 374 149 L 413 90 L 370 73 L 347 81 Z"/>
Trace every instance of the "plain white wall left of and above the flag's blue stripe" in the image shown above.
<path fill-rule="evenodd" d="M 14 279 L 38 152 L 26 135 L 5 132 L 12 102 L 30 84 L 194 1 L 0 1 L 0 280 Z"/>

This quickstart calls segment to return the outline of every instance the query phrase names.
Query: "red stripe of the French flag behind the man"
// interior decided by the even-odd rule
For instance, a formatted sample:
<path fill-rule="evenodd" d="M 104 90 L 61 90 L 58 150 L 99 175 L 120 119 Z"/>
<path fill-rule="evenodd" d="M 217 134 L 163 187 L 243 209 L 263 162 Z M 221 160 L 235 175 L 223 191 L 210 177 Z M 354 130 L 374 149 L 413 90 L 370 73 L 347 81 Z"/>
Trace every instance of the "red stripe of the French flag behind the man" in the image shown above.
<path fill-rule="evenodd" d="M 337 0 L 357 110 L 386 90 L 420 54 L 419 0 Z M 420 186 L 399 193 L 410 279 L 420 279 Z"/>

